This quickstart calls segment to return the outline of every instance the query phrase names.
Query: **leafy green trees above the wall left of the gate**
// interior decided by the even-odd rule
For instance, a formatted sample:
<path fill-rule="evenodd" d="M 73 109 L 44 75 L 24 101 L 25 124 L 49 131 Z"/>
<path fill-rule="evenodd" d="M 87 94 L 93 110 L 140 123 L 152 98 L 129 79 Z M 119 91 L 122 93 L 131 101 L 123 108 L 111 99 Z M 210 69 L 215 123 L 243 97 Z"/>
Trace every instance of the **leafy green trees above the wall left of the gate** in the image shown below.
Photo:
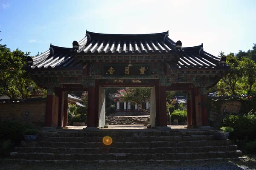
<path fill-rule="evenodd" d="M 18 97 L 26 99 L 32 94 L 44 93 L 44 89 L 38 88 L 29 79 L 23 66 L 26 65 L 26 57 L 29 52 L 24 53 L 16 49 L 10 51 L 9 48 L 0 48 L 0 94 L 6 94 L 11 99 Z M 32 87 L 32 88 L 31 88 Z"/>

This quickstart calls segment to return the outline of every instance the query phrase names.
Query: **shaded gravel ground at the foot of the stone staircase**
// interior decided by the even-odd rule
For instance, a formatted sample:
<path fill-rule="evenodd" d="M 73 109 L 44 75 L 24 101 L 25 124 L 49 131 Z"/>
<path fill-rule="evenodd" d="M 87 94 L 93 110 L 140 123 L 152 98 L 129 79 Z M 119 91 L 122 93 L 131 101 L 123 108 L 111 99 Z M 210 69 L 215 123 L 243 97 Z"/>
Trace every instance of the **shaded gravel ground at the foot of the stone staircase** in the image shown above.
<path fill-rule="evenodd" d="M 0 170 L 256 170 L 256 155 L 245 160 L 117 162 L 117 163 L 9 163 L 0 160 Z"/>

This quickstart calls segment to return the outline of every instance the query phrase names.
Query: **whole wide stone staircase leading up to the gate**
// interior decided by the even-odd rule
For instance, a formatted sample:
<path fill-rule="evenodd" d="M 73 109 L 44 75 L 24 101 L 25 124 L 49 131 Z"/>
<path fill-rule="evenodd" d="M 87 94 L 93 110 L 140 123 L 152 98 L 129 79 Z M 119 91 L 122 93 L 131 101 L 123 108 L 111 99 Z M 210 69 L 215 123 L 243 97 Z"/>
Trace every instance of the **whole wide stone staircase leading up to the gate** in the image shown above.
<path fill-rule="evenodd" d="M 35 142 L 22 141 L 11 160 L 177 161 L 242 156 L 230 140 L 216 140 L 216 130 L 64 131 L 43 131 Z M 104 136 L 111 136 L 111 145 L 103 144 Z"/>

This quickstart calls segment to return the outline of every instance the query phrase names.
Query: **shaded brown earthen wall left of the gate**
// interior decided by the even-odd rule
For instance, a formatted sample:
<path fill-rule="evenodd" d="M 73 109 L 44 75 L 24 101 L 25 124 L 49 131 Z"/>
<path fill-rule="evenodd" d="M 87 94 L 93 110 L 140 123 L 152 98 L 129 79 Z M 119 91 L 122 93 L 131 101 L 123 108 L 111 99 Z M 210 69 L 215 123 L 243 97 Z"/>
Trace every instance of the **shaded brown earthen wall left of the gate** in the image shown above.
<path fill-rule="evenodd" d="M 0 122 L 15 120 L 36 127 L 44 127 L 46 98 L 0 100 Z M 25 111 L 29 111 L 26 116 Z"/>

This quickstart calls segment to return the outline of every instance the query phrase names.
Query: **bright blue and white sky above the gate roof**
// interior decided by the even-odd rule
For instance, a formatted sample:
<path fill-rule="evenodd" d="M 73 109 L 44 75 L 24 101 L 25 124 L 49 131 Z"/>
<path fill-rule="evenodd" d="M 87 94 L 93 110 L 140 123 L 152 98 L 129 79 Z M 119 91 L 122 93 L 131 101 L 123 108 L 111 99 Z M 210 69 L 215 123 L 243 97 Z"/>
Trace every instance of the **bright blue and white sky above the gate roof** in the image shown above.
<path fill-rule="evenodd" d="M 256 43 L 256 0 L 0 0 L 0 43 L 31 55 L 72 47 L 85 31 L 146 34 L 169 30 L 183 47 L 218 55 Z"/>

